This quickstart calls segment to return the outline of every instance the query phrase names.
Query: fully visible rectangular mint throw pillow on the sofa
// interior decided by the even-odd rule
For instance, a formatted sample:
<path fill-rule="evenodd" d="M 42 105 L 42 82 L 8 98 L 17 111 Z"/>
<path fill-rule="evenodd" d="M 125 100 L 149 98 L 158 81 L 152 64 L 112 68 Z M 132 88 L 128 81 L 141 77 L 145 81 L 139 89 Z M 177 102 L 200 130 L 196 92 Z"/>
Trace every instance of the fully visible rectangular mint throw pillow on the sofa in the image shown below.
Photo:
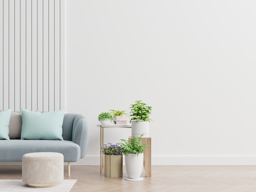
<path fill-rule="evenodd" d="M 20 139 L 63 140 L 62 124 L 65 108 L 58 112 L 31 112 L 22 108 Z"/>

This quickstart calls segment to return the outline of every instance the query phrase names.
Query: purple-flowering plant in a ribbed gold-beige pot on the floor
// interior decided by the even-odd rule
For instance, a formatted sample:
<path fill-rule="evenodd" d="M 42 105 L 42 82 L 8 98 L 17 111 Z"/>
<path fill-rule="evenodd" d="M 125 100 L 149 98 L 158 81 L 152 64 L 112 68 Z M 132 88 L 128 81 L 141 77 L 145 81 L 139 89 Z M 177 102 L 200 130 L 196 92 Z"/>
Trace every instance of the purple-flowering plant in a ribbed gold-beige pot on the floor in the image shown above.
<path fill-rule="evenodd" d="M 121 144 L 104 144 L 101 152 L 105 156 L 104 176 L 119 177 L 123 174 L 123 150 Z"/>

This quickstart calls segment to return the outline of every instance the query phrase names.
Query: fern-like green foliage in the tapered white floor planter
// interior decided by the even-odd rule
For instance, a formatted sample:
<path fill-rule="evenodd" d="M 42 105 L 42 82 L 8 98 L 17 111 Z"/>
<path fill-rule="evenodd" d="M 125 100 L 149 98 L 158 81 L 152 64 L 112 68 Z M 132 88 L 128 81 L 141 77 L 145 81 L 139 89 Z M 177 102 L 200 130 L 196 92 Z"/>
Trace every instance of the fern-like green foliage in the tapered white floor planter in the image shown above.
<path fill-rule="evenodd" d="M 132 136 L 130 141 L 125 140 L 125 139 L 120 139 L 121 141 L 124 142 L 124 143 L 121 143 L 121 145 L 122 145 L 121 149 L 123 150 L 124 155 L 128 155 L 131 153 L 131 154 L 136 154 L 137 156 L 139 156 L 139 153 L 144 152 L 144 148 L 146 148 L 149 145 L 147 143 L 144 145 L 141 145 L 141 137 L 142 136 L 143 136 L 143 134 L 140 137 Z"/>

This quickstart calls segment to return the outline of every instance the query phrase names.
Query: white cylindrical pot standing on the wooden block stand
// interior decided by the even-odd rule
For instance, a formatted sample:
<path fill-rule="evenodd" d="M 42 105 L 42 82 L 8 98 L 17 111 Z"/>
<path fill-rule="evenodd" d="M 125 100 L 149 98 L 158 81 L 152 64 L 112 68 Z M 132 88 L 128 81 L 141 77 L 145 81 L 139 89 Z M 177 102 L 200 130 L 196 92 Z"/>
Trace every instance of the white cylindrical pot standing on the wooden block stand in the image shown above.
<path fill-rule="evenodd" d="M 132 136 L 149 137 L 149 121 L 132 121 Z"/>

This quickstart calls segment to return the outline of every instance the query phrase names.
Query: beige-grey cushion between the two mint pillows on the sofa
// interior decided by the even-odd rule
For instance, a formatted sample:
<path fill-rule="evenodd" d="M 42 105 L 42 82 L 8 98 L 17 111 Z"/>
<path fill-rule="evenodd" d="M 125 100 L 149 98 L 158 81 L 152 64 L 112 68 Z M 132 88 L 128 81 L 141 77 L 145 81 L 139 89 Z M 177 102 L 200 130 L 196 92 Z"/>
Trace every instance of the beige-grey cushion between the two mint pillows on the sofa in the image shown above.
<path fill-rule="evenodd" d="M 0 109 L 0 112 L 2 110 Z M 36 109 L 35 112 L 39 112 L 39 109 Z M 11 118 L 9 123 L 9 138 L 10 139 L 20 139 L 22 127 L 22 115 L 21 113 L 11 112 Z"/>

